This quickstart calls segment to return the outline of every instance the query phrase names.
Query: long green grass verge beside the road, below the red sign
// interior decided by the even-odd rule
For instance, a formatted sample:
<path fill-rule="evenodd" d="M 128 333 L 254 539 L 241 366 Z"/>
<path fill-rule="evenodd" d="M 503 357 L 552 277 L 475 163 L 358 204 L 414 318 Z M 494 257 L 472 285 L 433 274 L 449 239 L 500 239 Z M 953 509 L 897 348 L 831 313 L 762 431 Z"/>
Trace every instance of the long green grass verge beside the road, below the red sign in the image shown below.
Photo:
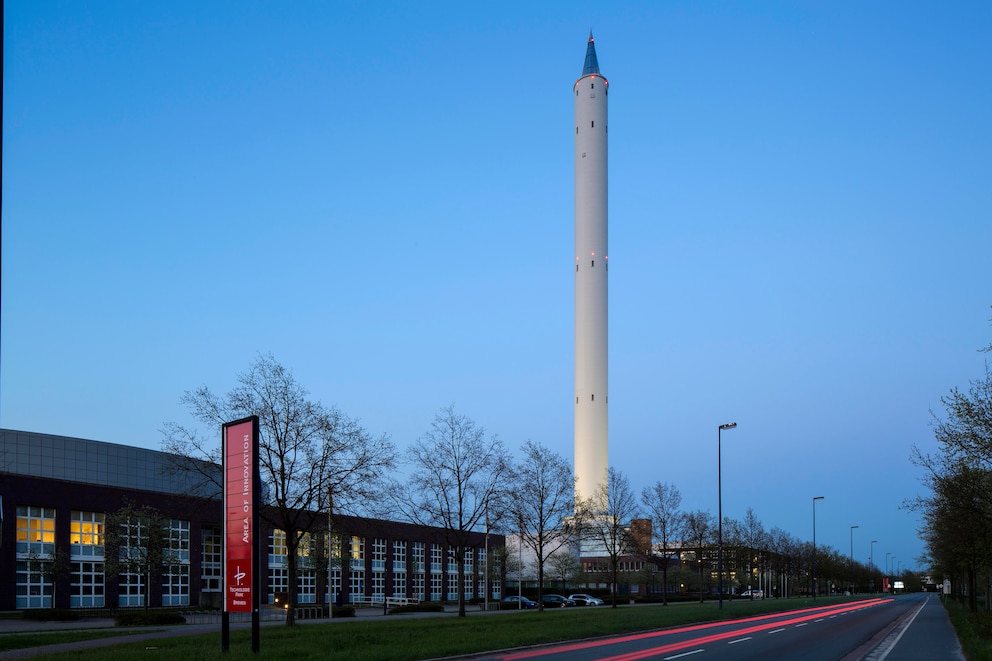
<path fill-rule="evenodd" d="M 301 624 L 293 628 L 263 627 L 260 658 L 287 661 L 348 659 L 348 661 L 417 661 L 539 645 L 562 640 L 727 620 L 760 613 L 797 610 L 853 601 L 851 598 L 734 601 L 610 608 L 567 608 L 522 613 L 498 612 L 457 618 L 453 614 L 427 618 L 357 618 L 333 623 Z M 250 654 L 250 632 L 231 633 L 231 652 L 220 650 L 220 634 L 174 636 L 140 643 L 119 643 L 50 659 L 231 659 Z M 235 655 L 235 656 L 232 656 Z"/>

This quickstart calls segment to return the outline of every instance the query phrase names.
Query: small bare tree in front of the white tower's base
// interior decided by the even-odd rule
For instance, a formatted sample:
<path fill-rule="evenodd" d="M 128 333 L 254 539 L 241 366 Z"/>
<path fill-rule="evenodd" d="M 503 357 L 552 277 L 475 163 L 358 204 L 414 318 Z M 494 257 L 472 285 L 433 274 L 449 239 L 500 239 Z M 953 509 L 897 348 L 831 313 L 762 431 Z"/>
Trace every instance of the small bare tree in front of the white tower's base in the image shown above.
<path fill-rule="evenodd" d="M 638 551 L 630 531 L 630 522 L 638 515 L 630 481 L 611 466 L 606 473 L 606 482 L 600 485 L 590 502 L 581 504 L 578 509 L 587 513 L 583 537 L 592 544 L 592 552 L 603 553 L 609 559 L 613 578 L 610 596 L 616 608 L 620 558 Z"/>

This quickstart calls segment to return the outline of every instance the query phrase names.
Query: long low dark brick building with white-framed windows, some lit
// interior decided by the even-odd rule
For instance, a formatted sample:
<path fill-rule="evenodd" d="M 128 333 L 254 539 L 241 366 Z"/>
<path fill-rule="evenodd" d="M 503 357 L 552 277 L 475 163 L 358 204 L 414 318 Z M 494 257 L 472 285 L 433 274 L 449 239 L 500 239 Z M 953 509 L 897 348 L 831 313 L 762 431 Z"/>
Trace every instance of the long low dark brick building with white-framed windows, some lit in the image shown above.
<path fill-rule="evenodd" d="M 0 611 L 144 606 L 146 599 L 150 606 L 219 607 L 222 503 L 176 466 L 175 457 L 155 450 L 0 429 Z M 107 571 L 107 521 L 127 505 L 153 508 L 166 521 L 168 560 L 151 581 Z M 457 567 L 443 530 L 335 515 L 333 531 L 329 544 L 301 545 L 307 554 L 298 562 L 298 604 L 457 600 Z M 284 603 L 286 531 L 263 519 L 260 532 L 268 541 L 263 601 Z M 294 532 L 324 536 L 327 526 Z M 466 600 L 487 590 L 490 599 L 500 597 L 501 572 L 487 555 L 503 544 L 500 535 L 472 534 Z M 318 547 L 330 552 L 317 558 L 307 551 Z"/>

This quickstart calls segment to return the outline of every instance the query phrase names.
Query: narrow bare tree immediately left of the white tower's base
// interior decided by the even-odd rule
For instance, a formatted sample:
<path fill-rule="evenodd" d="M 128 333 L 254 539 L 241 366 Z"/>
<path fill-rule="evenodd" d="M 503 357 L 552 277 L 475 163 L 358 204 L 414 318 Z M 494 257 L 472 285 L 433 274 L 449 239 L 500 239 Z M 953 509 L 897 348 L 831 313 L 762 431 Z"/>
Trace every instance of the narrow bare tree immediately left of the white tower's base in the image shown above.
<path fill-rule="evenodd" d="M 568 462 L 532 441 L 524 444 L 523 453 L 513 471 L 518 488 L 507 495 L 508 515 L 519 523 L 521 543 L 534 554 L 537 603 L 543 609 L 545 563 L 559 551 L 568 555 L 565 547 L 575 541 L 581 522 L 575 516 L 575 477 Z"/>

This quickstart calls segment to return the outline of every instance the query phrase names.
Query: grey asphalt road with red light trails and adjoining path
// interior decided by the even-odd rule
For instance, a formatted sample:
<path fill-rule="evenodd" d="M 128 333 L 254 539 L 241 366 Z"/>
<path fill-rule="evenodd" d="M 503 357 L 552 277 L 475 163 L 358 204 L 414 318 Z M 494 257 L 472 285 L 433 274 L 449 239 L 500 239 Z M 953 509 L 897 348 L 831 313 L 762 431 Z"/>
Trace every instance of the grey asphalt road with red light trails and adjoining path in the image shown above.
<path fill-rule="evenodd" d="M 535 647 L 492 661 L 964 659 L 936 595 L 914 594 Z"/>

